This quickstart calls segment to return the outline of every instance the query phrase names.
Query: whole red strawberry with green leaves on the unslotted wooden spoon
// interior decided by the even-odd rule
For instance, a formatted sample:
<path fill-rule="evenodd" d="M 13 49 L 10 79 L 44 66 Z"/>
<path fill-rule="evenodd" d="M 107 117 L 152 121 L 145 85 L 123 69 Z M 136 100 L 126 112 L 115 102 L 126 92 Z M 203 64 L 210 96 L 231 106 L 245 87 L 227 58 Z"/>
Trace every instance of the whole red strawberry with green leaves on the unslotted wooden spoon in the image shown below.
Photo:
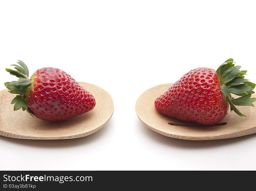
<path fill-rule="evenodd" d="M 27 66 L 19 60 L 16 70 L 6 69 L 18 81 L 4 83 L 10 93 L 18 94 L 11 102 L 14 110 L 26 110 L 45 121 L 60 121 L 92 110 L 95 99 L 66 72 L 41 68 L 29 79 Z"/>

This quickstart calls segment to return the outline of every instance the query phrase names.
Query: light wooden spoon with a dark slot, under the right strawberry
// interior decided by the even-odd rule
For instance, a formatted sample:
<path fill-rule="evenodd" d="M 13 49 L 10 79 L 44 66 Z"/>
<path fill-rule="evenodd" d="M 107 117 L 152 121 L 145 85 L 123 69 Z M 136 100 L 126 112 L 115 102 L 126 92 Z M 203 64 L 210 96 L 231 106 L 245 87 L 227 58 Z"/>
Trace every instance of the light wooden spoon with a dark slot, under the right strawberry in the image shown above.
<path fill-rule="evenodd" d="M 162 135 L 186 139 L 186 140 L 213 140 L 227 139 L 250 135 L 256 133 L 256 108 L 249 106 L 237 106 L 247 117 L 240 117 L 236 113 L 230 113 L 221 122 L 220 126 L 175 126 L 168 123 L 188 124 L 185 122 L 165 116 L 154 107 L 155 99 L 166 92 L 172 83 L 157 85 L 145 91 L 136 102 L 136 113 L 139 119 L 150 129 Z M 256 97 L 254 94 L 252 97 Z"/>

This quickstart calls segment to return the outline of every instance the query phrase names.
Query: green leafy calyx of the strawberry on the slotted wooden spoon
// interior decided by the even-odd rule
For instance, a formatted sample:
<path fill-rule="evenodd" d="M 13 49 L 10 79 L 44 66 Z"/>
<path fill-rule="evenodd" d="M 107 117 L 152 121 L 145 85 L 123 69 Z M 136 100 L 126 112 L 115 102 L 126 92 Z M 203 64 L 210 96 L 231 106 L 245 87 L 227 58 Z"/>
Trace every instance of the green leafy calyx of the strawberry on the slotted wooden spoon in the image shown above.
<path fill-rule="evenodd" d="M 245 79 L 244 75 L 246 75 L 247 70 L 239 70 L 240 68 L 241 66 L 235 66 L 234 60 L 230 58 L 220 65 L 216 72 L 220 78 L 221 92 L 226 96 L 230 110 L 241 117 L 246 117 L 235 105 L 254 107 L 253 102 L 256 101 L 256 98 L 251 98 L 251 95 L 255 93 L 253 91 L 255 83 Z M 240 97 L 234 99 L 231 93 Z"/>

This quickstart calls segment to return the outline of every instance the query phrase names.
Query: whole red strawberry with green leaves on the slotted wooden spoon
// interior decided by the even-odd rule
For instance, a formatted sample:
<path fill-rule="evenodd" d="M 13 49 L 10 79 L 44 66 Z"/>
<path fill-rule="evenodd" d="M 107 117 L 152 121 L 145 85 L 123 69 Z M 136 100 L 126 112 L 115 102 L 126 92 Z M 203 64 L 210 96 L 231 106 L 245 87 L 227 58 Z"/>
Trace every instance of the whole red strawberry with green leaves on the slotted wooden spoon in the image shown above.
<path fill-rule="evenodd" d="M 246 117 L 234 105 L 254 107 L 256 98 L 250 97 L 255 84 L 244 78 L 247 71 L 233 63 L 230 58 L 217 71 L 206 67 L 189 71 L 155 100 L 155 108 L 164 115 L 204 125 L 220 122 L 229 106 Z M 230 93 L 240 97 L 234 99 Z"/>

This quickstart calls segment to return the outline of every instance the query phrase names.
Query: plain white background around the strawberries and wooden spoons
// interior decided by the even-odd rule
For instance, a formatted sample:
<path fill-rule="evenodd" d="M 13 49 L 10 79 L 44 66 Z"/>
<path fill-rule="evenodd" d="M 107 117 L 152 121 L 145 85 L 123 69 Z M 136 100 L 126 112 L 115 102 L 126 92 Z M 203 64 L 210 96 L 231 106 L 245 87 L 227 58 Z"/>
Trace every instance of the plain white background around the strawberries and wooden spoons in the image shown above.
<path fill-rule="evenodd" d="M 137 98 L 196 67 L 234 58 L 256 81 L 253 1 L 1 1 L 0 89 L 18 59 L 107 90 L 102 130 L 74 140 L 0 137 L 1 170 L 256 170 L 256 135 L 168 138 L 144 126 Z"/>

